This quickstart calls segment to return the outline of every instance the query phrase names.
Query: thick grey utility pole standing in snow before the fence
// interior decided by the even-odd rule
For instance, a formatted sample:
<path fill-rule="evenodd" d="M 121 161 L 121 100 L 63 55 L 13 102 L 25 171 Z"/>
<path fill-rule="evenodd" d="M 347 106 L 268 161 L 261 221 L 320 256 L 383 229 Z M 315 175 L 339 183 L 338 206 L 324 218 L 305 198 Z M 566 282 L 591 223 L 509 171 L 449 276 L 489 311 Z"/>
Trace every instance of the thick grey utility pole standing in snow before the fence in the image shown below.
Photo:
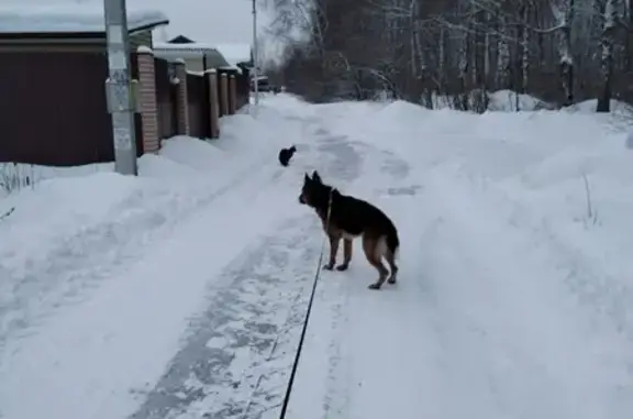
<path fill-rule="evenodd" d="M 112 115 L 114 169 L 121 175 L 138 174 L 134 126 L 134 82 L 130 77 L 130 37 L 125 0 L 103 0 L 108 69 L 108 111 Z"/>

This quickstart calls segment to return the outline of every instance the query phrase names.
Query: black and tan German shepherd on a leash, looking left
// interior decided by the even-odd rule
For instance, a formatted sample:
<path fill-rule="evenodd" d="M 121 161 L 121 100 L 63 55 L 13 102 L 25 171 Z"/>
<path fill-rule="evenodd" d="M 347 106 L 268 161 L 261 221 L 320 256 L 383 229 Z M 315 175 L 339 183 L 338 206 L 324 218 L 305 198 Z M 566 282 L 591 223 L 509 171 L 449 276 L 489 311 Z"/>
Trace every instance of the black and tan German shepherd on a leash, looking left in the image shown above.
<path fill-rule="evenodd" d="M 380 289 L 387 279 L 389 271 L 382 265 L 382 257 L 387 260 L 391 269 L 387 282 L 396 284 L 398 274 L 396 256 L 400 240 L 396 225 L 385 212 L 367 201 L 343 195 L 332 186 L 323 184 L 316 170 L 312 177 L 304 175 L 299 202 L 316 211 L 323 223 L 323 230 L 330 239 L 330 262 L 323 266 L 324 269 L 334 268 L 338 244 L 343 239 L 344 261 L 336 266 L 336 269 L 346 271 L 352 261 L 352 242 L 362 235 L 365 257 L 379 275 L 369 288 Z M 327 219 L 329 209 L 330 219 Z"/>

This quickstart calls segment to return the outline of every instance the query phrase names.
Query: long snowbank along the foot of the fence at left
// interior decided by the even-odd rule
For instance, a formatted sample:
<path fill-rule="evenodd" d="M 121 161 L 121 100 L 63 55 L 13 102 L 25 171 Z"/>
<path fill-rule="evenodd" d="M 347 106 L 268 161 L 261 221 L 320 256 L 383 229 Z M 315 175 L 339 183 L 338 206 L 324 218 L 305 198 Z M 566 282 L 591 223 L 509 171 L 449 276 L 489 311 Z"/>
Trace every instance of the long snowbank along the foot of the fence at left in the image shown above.
<path fill-rule="evenodd" d="M 169 139 L 159 155 L 140 158 L 138 177 L 114 174 L 112 164 L 23 166 L 42 180 L 0 199 L 0 214 L 14 208 L 0 221 L 0 346 L 25 322 L 78 298 L 86 280 L 96 287 L 215 194 L 276 158 L 266 132 L 278 122 L 240 115 L 224 121 L 226 135 L 212 142 Z M 95 273 L 95 266 L 107 268 Z"/>

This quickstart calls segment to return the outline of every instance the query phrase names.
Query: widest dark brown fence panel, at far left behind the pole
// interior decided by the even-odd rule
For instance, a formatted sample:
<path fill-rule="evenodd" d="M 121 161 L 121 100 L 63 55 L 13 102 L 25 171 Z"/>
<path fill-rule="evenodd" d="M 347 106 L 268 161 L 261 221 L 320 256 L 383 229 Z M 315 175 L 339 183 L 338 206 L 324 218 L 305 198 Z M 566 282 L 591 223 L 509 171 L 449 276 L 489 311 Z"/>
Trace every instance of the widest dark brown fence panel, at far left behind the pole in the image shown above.
<path fill-rule="evenodd" d="M 0 62 L 0 162 L 71 166 L 114 159 L 104 53 L 1 52 Z"/>

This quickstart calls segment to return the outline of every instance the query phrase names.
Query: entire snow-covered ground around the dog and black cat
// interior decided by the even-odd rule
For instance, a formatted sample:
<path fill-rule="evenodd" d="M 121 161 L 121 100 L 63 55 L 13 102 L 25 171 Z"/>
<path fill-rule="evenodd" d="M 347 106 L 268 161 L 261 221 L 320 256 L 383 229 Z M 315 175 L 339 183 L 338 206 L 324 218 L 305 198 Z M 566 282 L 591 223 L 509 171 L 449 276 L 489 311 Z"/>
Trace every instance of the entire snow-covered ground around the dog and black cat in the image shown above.
<path fill-rule="evenodd" d="M 630 126 L 578 110 L 278 95 L 138 178 L 34 169 L 54 178 L 0 199 L 0 418 L 277 418 L 323 238 L 312 169 L 395 220 L 401 271 L 367 289 L 357 243 L 322 273 L 288 418 L 629 418 Z"/>

